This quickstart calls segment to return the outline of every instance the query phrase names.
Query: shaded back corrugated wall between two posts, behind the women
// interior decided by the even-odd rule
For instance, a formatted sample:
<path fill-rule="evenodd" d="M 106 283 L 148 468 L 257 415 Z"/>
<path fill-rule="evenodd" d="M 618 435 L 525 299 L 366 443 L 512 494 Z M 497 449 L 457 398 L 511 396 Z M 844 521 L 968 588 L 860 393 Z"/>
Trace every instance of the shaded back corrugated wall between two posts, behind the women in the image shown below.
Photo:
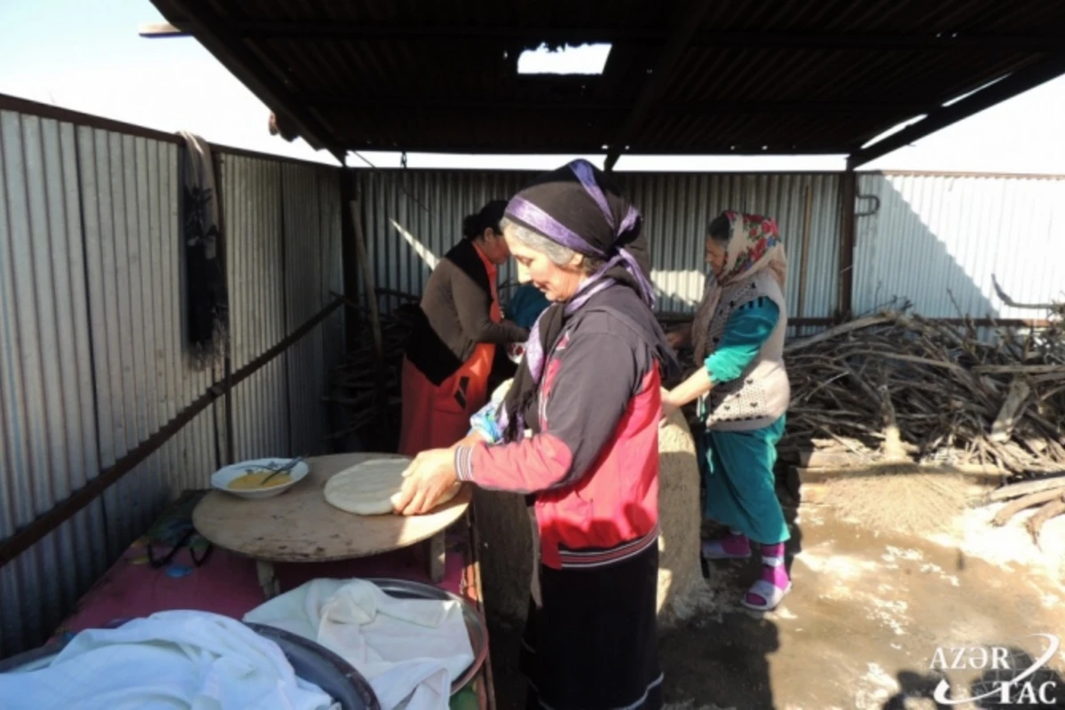
<path fill-rule="evenodd" d="M 506 199 L 524 172 L 359 171 L 370 260 L 378 287 L 420 294 L 435 259 L 460 237 L 462 217 L 490 199 Z M 644 216 L 661 311 L 692 311 L 703 290 L 703 240 L 714 214 L 733 209 L 775 217 L 790 258 L 788 295 L 799 302 L 805 215 L 810 210 L 803 314 L 836 309 L 839 244 L 838 175 L 621 174 L 620 186 Z M 508 264 L 501 282 L 512 278 Z M 386 308 L 396 299 L 382 299 Z"/>

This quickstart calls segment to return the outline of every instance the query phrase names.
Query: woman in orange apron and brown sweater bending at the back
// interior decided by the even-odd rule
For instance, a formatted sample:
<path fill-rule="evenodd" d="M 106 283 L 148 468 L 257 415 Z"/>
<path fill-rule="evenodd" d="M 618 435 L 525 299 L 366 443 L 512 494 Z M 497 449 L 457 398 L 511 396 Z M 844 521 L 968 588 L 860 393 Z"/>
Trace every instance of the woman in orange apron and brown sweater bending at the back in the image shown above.
<path fill-rule="evenodd" d="M 466 217 L 462 241 L 429 277 L 403 364 L 399 453 L 462 439 L 470 416 L 488 401 L 495 346 L 528 337 L 503 320 L 496 293 L 496 266 L 510 255 L 499 231 L 506 207 L 496 200 Z"/>

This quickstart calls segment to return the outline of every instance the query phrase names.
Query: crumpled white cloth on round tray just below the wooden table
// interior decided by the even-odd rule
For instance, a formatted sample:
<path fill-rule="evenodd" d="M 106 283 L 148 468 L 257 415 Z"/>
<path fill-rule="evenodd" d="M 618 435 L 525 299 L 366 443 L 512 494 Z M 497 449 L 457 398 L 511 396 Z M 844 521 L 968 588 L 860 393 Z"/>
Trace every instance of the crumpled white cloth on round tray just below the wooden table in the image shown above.
<path fill-rule="evenodd" d="M 473 662 L 459 602 L 397 599 L 362 579 L 315 579 L 244 621 L 292 631 L 340 655 L 370 681 L 382 710 L 446 709 L 452 682 Z"/>

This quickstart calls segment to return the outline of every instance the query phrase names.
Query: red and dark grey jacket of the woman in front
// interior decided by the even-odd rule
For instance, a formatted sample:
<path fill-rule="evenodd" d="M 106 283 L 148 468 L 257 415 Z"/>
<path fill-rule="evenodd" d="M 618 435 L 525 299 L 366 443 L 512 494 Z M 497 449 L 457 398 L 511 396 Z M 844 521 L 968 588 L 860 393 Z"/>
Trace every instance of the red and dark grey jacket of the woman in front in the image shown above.
<path fill-rule="evenodd" d="M 550 567 L 602 566 L 643 551 L 658 536 L 661 370 L 672 362 L 632 288 L 595 294 L 547 353 L 538 430 L 459 448 L 459 478 L 535 494 Z"/>

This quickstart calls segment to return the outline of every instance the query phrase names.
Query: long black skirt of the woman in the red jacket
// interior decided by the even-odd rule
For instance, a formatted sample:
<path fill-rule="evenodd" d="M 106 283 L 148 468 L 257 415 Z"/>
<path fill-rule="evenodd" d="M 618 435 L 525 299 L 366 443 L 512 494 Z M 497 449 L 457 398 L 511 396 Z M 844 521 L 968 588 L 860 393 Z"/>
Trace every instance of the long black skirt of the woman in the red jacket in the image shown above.
<path fill-rule="evenodd" d="M 529 604 L 521 668 L 527 707 L 657 710 L 658 546 L 603 567 L 540 566 L 543 607 Z"/>

